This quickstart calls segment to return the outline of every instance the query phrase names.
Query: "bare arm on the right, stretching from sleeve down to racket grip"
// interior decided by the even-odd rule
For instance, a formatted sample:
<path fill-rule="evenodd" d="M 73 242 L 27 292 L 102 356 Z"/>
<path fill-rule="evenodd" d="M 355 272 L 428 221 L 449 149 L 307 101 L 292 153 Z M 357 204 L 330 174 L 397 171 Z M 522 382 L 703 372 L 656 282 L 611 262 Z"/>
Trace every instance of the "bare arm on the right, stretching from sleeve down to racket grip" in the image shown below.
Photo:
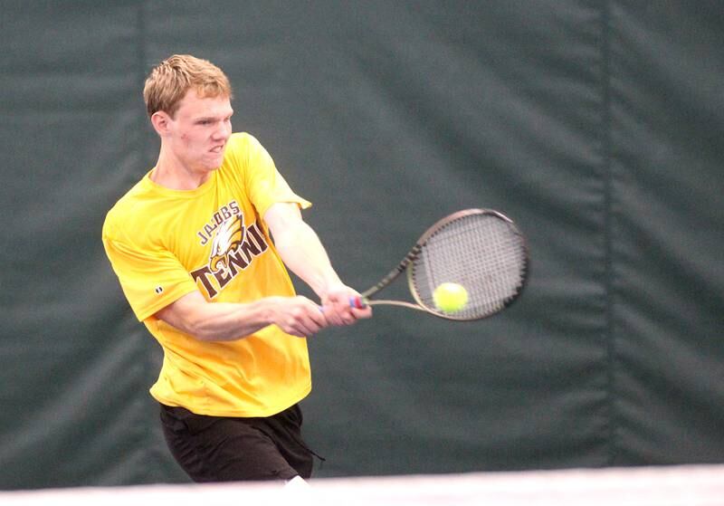
<path fill-rule="evenodd" d="M 369 318 L 372 310 L 351 308 L 349 298 L 359 293 L 343 283 L 329 261 L 319 236 L 301 217 L 299 205 L 279 202 L 263 216 L 284 264 L 319 295 L 325 316 L 333 325 L 349 325 Z"/>

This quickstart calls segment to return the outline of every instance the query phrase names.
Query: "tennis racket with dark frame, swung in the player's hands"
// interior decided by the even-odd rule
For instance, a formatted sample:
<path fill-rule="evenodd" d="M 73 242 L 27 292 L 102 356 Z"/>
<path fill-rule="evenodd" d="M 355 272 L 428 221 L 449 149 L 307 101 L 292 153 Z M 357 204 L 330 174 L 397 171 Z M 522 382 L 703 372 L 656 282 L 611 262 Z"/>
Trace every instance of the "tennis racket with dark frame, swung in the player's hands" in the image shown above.
<path fill-rule="evenodd" d="M 370 299 L 403 272 L 414 303 Z M 357 308 L 402 306 L 448 320 L 480 320 L 516 301 L 528 272 L 528 247 L 513 221 L 491 209 L 465 209 L 428 228 L 392 272 L 349 303 Z M 462 309 L 436 306 L 433 293 L 443 283 L 457 283 L 467 291 Z"/>

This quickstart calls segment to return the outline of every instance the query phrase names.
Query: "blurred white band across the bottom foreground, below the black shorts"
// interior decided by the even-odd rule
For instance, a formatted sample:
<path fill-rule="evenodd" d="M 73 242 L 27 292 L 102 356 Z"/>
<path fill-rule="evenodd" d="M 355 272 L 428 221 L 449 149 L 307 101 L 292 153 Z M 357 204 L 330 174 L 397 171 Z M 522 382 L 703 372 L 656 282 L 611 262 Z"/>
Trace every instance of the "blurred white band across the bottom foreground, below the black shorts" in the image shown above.
<path fill-rule="evenodd" d="M 144 485 L 2 492 L 3 506 L 53 504 L 314 504 L 338 506 L 724 505 L 724 465 L 329 478 L 309 487 L 267 483 Z"/>

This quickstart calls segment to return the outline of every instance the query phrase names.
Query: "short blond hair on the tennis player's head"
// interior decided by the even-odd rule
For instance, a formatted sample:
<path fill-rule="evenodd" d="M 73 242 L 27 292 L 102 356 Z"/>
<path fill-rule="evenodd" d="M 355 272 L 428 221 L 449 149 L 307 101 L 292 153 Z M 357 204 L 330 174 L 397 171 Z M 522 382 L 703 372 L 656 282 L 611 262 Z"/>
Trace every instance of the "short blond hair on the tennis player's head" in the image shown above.
<path fill-rule="evenodd" d="M 143 87 L 148 116 L 163 110 L 173 118 L 189 90 L 195 90 L 200 97 L 232 98 L 229 78 L 214 63 L 190 54 L 174 54 L 148 74 Z"/>

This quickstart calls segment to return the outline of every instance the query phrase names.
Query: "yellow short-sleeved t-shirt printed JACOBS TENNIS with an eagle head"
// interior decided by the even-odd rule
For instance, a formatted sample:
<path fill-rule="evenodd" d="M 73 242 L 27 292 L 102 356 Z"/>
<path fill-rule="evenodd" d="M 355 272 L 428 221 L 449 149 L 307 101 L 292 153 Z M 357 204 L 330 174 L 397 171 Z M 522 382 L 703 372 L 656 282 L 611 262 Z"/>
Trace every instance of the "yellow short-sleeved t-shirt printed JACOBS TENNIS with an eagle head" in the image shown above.
<path fill-rule="evenodd" d="M 103 244 L 138 320 L 164 350 L 151 395 L 199 415 L 268 416 L 311 389 L 306 339 L 275 325 L 243 339 L 204 342 L 154 315 L 192 291 L 211 302 L 294 295 L 262 221 L 295 195 L 262 145 L 233 134 L 222 167 L 195 190 L 158 186 L 150 172 L 103 224 Z"/>

